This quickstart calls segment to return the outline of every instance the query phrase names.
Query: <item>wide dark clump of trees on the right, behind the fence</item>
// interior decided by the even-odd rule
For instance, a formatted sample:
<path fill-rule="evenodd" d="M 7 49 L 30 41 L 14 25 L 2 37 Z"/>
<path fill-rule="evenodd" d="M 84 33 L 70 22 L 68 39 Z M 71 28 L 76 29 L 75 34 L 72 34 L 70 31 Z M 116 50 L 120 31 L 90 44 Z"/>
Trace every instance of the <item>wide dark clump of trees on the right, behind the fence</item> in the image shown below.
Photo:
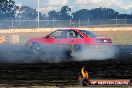
<path fill-rule="evenodd" d="M 114 19 L 119 15 L 119 12 L 114 11 L 111 8 L 94 8 L 91 10 L 81 9 L 72 13 L 73 19 Z"/>

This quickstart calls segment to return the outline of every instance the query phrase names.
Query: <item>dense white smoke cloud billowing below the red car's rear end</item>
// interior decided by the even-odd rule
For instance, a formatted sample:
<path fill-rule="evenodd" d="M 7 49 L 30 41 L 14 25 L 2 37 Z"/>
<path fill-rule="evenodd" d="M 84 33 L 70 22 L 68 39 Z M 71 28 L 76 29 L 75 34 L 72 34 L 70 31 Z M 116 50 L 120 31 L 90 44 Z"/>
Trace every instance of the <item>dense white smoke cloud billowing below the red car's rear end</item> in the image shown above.
<path fill-rule="evenodd" d="M 83 48 L 81 51 L 72 52 L 74 60 L 105 60 L 116 58 L 118 55 L 119 50 L 115 46 L 103 49 Z"/>

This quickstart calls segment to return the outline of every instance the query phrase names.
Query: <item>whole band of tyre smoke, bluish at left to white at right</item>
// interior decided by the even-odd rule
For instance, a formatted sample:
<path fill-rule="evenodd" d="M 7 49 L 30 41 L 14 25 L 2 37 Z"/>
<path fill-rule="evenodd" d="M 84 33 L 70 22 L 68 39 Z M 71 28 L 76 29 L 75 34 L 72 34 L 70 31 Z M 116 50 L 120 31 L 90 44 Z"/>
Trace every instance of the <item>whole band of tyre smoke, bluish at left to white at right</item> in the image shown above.
<path fill-rule="evenodd" d="M 36 55 L 33 51 L 25 46 L 0 46 L 0 63 L 60 63 L 62 61 L 82 61 L 82 60 L 104 60 L 115 58 L 115 55 L 119 53 L 117 47 L 113 46 L 111 49 L 99 51 L 93 48 L 83 48 L 78 52 L 68 51 L 70 47 L 63 46 L 46 46 L 43 47 L 47 50 L 45 53 Z M 64 52 L 67 51 L 67 52 Z M 70 57 L 70 55 L 72 57 Z"/>

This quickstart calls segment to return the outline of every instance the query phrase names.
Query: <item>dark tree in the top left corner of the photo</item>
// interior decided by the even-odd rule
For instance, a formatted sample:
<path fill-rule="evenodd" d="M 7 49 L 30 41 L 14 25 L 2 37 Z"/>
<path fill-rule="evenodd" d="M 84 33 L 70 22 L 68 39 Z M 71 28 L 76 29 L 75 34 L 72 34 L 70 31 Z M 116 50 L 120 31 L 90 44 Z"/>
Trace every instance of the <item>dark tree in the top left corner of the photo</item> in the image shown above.
<path fill-rule="evenodd" d="M 16 5 L 12 0 L 0 0 L 0 20 L 14 19 Z"/>

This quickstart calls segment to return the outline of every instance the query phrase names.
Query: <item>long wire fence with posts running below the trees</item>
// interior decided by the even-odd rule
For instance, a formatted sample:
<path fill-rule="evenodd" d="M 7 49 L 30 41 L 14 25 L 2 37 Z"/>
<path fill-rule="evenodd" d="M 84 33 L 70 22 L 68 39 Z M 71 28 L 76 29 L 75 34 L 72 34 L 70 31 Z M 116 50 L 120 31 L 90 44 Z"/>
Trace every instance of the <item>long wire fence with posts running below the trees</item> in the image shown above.
<path fill-rule="evenodd" d="M 0 20 L 0 29 L 131 26 L 132 19 L 98 20 Z"/>

